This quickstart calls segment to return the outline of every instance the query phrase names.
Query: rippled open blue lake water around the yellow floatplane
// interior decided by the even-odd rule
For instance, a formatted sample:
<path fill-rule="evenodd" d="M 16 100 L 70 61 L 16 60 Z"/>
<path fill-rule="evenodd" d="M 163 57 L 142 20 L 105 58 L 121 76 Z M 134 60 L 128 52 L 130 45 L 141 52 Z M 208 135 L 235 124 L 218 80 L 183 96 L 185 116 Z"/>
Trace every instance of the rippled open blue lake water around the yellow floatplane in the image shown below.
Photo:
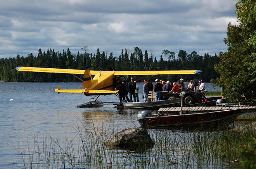
<path fill-rule="evenodd" d="M 143 84 L 138 84 L 142 90 Z M 95 130 L 108 127 L 114 133 L 140 126 L 137 115 L 141 110 L 123 110 L 113 106 L 75 108 L 91 97 L 71 93 L 58 95 L 54 92 L 58 86 L 61 89 L 79 89 L 81 83 L 0 83 L 0 168 L 24 167 L 24 163 L 29 161 L 27 156 L 23 162 L 24 155 L 29 154 L 26 146 L 33 147 L 35 140 L 43 145 L 46 135 L 58 139 L 65 147 L 66 140 L 76 137 L 78 126 L 93 126 Z M 220 88 L 213 89 L 206 83 L 206 90 L 220 91 Z M 141 93 L 139 98 L 142 101 Z M 100 99 L 118 101 L 115 95 L 100 96 Z M 37 166 L 35 158 L 36 155 L 34 167 Z M 194 167 L 197 168 L 196 165 Z"/>

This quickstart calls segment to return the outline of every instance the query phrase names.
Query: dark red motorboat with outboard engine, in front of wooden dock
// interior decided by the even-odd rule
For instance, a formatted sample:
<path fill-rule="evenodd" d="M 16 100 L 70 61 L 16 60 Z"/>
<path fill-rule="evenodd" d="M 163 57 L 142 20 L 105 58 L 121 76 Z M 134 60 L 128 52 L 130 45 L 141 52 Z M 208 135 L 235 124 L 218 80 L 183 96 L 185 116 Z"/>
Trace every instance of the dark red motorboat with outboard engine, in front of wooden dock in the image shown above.
<path fill-rule="evenodd" d="M 240 111 L 241 109 L 232 109 L 178 115 L 140 113 L 138 122 L 146 128 L 215 128 L 233 123 Z"/>

